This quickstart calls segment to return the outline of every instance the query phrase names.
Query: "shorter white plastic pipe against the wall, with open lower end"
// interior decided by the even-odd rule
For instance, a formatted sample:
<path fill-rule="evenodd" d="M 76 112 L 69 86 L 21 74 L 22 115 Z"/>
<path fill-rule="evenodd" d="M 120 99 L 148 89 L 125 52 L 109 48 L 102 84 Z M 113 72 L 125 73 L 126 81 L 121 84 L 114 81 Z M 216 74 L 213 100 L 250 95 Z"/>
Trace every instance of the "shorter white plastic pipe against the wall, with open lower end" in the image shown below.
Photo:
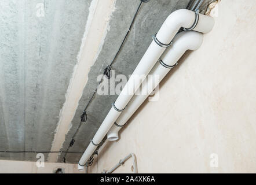
<path fill-rule="evenodd" d="M 177 64 L 177 61 L 185 53 L 186 50 L 197 50 L 203 42 L 203 34 L 195 31 L 184 31 L 177 34 L 173 40 L 173 46 L 169 47 L 160 62 L 156 63 L 148 75 L 148 80 L 142 83 L 137 90 L 136 95 L 131 98 L 127 108 L 120 114 L 115 124 L 108 131 L 108 140 L 117 140 L 118 132 L 122 126 L 130 119 L 134 112 L 147 99 L 159 82 L 167 75 L 171 68 Z M 165 65 L 164 65 L 165 64 Z"/>

